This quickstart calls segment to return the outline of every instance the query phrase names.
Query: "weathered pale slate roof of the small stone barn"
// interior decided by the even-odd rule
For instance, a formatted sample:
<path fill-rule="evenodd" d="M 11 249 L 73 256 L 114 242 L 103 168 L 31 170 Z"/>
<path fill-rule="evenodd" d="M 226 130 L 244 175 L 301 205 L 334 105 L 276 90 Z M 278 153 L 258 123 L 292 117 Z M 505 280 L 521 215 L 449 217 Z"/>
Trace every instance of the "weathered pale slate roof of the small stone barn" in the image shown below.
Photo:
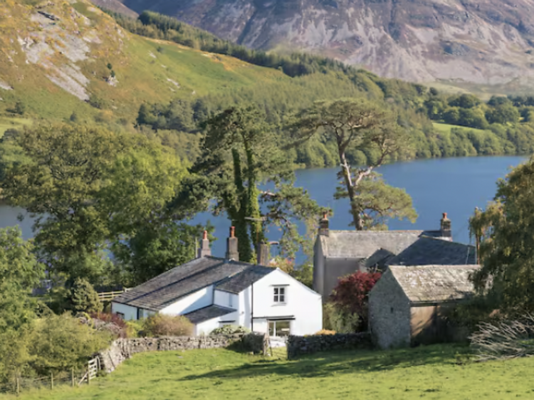
<path fill-rule="evenodd" d="M 470 275 L 479 265 L 390 265 L 389 272 L 412 303 L 460 300 L 474 294 Z"/>

